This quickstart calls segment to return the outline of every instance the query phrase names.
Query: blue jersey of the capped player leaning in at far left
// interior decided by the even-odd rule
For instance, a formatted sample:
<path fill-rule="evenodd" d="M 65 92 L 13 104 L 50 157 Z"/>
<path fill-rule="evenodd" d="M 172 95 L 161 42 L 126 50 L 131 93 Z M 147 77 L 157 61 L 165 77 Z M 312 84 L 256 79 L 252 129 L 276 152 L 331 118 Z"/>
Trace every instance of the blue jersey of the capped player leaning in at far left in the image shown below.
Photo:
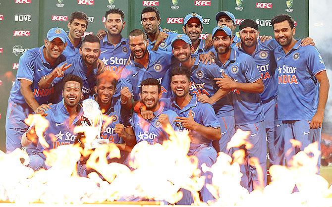
<path fill-rule="evenodd" d="M 31 91 L 38 104 L 48 104 L 53 97 L 54 88 L 39 89 L 38 82 L 44 76 L 49 74 L 57 64 L 63 62 L 65 57 L 61 54 L 56 60 L 54 66 L 51 66 L 45 59 L 43 49 L 33 48 L 24 52 L 19 59 L 19 66 L 15 78 L 15 83 L 11 88 L 9 99 L 17 104 L 25 104 L 24 97 L 20 91 L 20 79 L 31 81 Z"/>

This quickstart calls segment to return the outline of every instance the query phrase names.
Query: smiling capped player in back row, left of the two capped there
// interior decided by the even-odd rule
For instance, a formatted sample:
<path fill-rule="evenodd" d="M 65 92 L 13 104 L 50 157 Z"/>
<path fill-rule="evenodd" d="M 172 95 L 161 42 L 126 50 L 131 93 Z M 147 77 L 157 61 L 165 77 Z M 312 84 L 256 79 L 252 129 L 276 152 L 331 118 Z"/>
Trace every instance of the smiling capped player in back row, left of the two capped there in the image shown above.
<path fill-rule="evenodd" d="M 203 53 L 205 40 L 199 39 L 203 31 L 203 17 L 197 13 L 187 14 L 184 17 L 182 30 L 186 35 L 188 35 L 192 42 L 193 51 L 191 53 Z"/>

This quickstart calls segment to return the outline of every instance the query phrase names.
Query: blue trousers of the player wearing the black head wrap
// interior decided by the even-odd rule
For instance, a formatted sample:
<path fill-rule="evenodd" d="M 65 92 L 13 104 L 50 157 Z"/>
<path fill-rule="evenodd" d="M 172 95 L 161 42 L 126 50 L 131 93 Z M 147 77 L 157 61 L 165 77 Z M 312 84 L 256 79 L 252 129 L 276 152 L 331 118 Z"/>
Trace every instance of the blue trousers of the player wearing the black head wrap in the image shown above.
<path fill-rule="evenodd" d="M 283 126 L 277 117 L 277 98 L 262 101 L 264 108 L 264 125 L 269 149 L 271 164 L 284 164 Z"/>

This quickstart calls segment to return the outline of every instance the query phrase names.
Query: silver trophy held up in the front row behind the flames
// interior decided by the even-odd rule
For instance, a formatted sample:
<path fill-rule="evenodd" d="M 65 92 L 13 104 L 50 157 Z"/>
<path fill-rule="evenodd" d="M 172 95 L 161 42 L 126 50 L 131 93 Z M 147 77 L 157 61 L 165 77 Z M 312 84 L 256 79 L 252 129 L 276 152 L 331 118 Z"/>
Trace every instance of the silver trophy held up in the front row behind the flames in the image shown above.
<path fill-rule="evenodd" d="M 100 133 L 102 131 L 103 125 L 103 113 L 99 108 L 99 104 L 92 99 L 86 99 L 82 102 L 83 108 L 83 120 L 81 121 L 82 125 L 93 126 L 95 127 L 96 133 L 93 133 L 92 137 L 87 137 L 84 147 L 86 149 L 95 149 L 100 145 L 110 143 L 109 139 L 102 139 Z M 85 133 L 87 134 L 90 133 Z"/>

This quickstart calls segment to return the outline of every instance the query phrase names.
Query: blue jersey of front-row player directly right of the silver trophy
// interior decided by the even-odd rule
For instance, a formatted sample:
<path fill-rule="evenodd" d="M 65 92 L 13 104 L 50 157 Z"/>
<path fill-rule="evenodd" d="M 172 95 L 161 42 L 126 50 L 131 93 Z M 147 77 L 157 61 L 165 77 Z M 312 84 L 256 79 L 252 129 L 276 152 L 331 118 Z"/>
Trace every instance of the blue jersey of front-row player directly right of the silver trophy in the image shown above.
<path fill-rule="evenodd" d="M 91 99 L 96 100 L 97 94 L 94 94 Z M 121 144 L 124 143 L 122 138 L 120 138 L 115 132 L 114 127 L 115 124 L 121 123 L 124 125 L 124 128 L 131 126 L 129 119 L 131 118 L 130 110 L 125 108 L 121 108 L 121 103 L 119 98 L 112 97 L 111 98 L 111 107 L 108 111 L 104 113 L 111 118 L 111 123 L 108 126 L 104 126 L 105 130 L 101 134 L 102 139 L 109 139 L 111 143 Z M 104 123 L 105 124 L 105 119 Z"/>

